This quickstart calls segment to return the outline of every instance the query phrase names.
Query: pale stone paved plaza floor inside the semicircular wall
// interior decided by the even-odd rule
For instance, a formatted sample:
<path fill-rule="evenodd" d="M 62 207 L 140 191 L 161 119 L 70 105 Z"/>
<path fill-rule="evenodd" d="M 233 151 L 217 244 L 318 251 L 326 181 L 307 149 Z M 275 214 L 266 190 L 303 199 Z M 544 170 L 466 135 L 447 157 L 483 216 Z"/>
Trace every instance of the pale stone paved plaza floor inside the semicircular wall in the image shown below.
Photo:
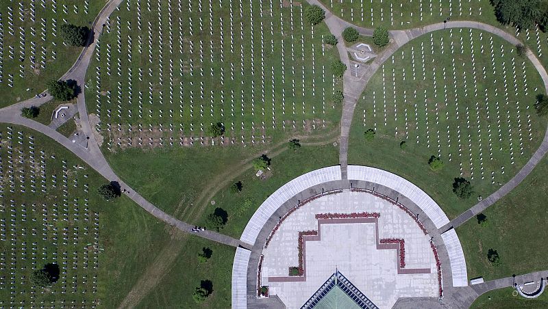
<path fill-rule="evenodd" d="M 406 269 L 430 273 L 397 274 L 397 250 L 377 250 L 374 223 L 322 224 L 321 240 L 306 241 L 306 281 L 269 282 L 287 277 L 288 268 L 299 265 L 298 232 L 317 230 L 317 213 L 364 211 L 380 213 L 379 239 L 405 239 Z M 336 268 L 379 308 L 391 308 L 399 297 L 437 296 L 429 237 L 406 212 L 369 193 L 344 191 L 301 206 L 284 220 L 263 254 L 262 284 L 287 308 L 300 308 Z"/>

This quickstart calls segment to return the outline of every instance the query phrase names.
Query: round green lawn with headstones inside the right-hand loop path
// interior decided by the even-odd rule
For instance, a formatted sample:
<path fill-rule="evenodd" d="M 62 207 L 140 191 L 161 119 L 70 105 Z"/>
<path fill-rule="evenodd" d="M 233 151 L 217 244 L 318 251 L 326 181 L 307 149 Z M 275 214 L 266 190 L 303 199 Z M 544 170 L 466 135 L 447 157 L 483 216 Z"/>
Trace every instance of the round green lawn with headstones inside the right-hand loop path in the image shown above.
<path fill-rule="evenodd" d="M 532 108 L 544 92 L 538 72 L 514 54 L 506 41 L 470 29 L 436 31 L 406 44 L 358 100 L 349 163 L 403 176 L 450 218 L 488 196 L 530 159 L 546 129 Z M 376 133 L 371 143 L 363 137 L 368 129 Z M 432 155 L 443 160 L 443 170 L 429 169 Z M 475 188 L 468 200 L 452 193 L 453 178 L 461 176 Z"/>

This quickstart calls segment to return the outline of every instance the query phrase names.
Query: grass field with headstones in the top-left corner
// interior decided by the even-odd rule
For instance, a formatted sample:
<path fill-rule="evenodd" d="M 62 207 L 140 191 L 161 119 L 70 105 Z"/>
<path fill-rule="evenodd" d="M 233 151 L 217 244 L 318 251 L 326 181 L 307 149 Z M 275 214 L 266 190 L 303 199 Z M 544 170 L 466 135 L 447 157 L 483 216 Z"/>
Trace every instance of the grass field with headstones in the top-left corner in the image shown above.
<path fill-rule="evenodd" d="M 103 5 L 104 0 L 1 1 L 0 107 L 32 98 L 64 75 L 82 48 L 64 46 L 59 27 L 64 21 L 91 27 Z"/>

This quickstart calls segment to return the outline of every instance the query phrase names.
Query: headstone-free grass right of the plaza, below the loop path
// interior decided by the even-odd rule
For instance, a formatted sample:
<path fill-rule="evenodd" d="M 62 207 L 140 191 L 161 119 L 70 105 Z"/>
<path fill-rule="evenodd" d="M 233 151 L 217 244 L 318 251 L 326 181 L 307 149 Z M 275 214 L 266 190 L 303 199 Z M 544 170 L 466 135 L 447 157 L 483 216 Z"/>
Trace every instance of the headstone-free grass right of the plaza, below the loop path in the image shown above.
<path fill-rule="evenodd" d="M 488 226 L 472 218 L 457 228 L 469 278 L 492 280 L 548 269 L 547 173 L 545 157 L 516 189 L 483 212 Z M 489 262 L 489 249 L 497 250 L 501 265 Z"/>

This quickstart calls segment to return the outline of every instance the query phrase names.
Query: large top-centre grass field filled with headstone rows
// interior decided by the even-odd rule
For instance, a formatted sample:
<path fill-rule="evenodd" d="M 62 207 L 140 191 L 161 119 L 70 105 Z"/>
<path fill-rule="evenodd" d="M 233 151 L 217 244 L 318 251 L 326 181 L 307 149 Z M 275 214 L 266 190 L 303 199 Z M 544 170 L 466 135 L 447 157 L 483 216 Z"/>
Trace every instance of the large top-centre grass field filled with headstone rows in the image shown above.
<path fill-rule="evenodd" d="M 336 127 L 336 49 L 303 6 L 277 1 L 125 1 L 88 72 L 90 113 L 109 148 L 263 144 Z M 131 61 L 131 62 L 130 62 Z M 160 144 L 162 143 L 162 144 Z"/>

